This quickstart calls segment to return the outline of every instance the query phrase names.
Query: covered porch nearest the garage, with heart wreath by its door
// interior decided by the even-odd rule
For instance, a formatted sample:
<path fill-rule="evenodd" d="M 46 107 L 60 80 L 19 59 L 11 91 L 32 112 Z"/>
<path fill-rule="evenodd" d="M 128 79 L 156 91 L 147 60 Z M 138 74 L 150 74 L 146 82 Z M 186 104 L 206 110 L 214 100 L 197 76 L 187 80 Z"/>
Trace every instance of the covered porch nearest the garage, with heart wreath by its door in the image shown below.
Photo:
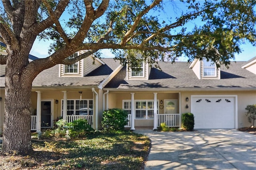
<path fill-rule="evenodd" d="M 181 127 L 182 100 L 180 92 L 111 91 L 106 96 L 106 108 L 127 110 L 128 124 L 125 127 L 130 127 L 131 130 L 136 127 L 157 129 L 161 123 L 166 123 L 168 127 Z"/>

